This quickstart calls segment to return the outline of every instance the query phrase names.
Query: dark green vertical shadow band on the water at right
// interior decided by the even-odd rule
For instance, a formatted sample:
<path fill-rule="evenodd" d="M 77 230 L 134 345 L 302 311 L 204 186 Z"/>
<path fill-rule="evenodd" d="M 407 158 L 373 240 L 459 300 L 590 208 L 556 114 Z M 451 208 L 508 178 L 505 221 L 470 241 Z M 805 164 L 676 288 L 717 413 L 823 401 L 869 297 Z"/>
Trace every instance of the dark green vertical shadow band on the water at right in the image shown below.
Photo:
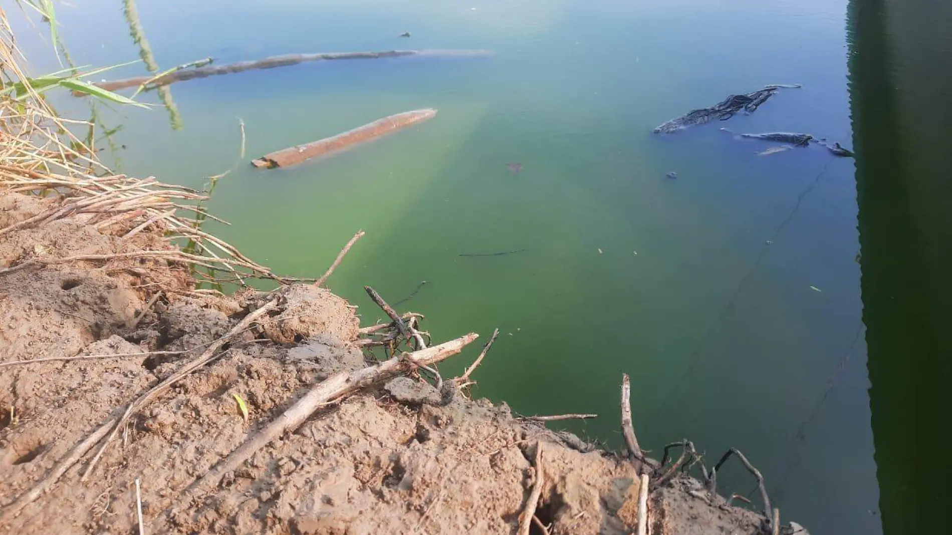
<path fill-rule="evenodd" d="M 952 8 L 848 15 L 863 322 L 883 533 L 944 533 L 952 382 Z"/>

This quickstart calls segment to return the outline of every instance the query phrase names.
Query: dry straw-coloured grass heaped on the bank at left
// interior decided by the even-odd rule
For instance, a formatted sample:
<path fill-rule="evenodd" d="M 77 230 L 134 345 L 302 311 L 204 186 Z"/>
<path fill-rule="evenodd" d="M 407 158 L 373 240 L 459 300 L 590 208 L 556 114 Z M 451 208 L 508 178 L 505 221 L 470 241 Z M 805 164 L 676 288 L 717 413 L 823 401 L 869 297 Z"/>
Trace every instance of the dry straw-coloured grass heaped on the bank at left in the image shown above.
<path fill-rule="evenodd" d="M 168 251 L 170 260 L 204 268 L 204 272 L 194 272 L 210 282 L 246 285 L 250 278 L 279 283 L 298 280 L 278 277 L 202 231 L 206 218 L 217 220 L 202 205 L 207 192 L 163 184 L 153 177 L 113 173 L 95 155 L 95 126 L 59 117 L 44 95 L 27 83 L 30 77 L 22 65 L 26 59 L 0 10 L 0 91 L 16 84 L 25 88 L 19 95 L 0 92 L 0 190 L 56 199 L 52 208 L 35 217 L 0 228 L 0 236 L 62 219 L 82 221 L 124 237 L 151 228 L 184 246 L 185 250 Z M 35 84 L 36 78 L 33 80 Z M 75 131 L 88 133 L 80 139 Z M 44 264 L 51 260 L 36 257 L 22 262 Z"/>

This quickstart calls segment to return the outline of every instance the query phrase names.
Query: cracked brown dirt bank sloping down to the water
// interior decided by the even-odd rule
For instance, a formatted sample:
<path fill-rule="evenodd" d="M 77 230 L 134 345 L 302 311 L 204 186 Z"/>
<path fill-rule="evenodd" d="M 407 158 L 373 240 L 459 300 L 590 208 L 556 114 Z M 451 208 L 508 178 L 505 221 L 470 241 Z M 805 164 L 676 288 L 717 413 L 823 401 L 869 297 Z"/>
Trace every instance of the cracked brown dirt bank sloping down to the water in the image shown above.
<path fill-rule="evenodd" d="M 0 193 L 0 228 L 49 202 Z M 171 247 L 149 233 L 122 240 L 121 230 L 102 233 L 60 221 L 0 235 L 0 268 L 38 254 Z M 439 395 L 406 378 L 317 412 L 218 488 L 184 502 L 189 485 L 309 386 L 366 366 L 352 344 L 358 328 L 352 308 L 309 286 L 279 290 L 283 304 L 276 314 L 136 414 L 89 481 L 79 481 L 88 455 L 48 493 L 11 511 L 10 503 L 73 446 L 264 299 L 253 292 L 200 295 L 189 293 L 191 287 L 185 268 L 153 261 L 71 263 L 0 275 L 0 364 L 143 353 L 0 367 L 0 532 L 132 533 L 133 482 L 139 479 L 149 533 L 514 533 L 534 481 L 536 468 L 528 459 L 538 444 L 545 445 L 545 487 L 537 515 L 551 524 L 550 533 L 634 531 L 639 484 L 621 456 L 583 453 L 580 445 L 589 448 L 577 437 L 514 419 L 505 404 L 463 396 L 447 406 L 414 404 L 408 387 L 421 390 L 418 399 Z M 143 312 L 159 289 L 163 299 Z M 144 353 L 159 349 L 187 352 Z M 247 422 L 234 395 L 248 405 Z M 723 502 L 705 496 L 694 480 L 678 478 L 652 492 L 653 532 L 760 530 L 758 515 L 717 506 Z"/>

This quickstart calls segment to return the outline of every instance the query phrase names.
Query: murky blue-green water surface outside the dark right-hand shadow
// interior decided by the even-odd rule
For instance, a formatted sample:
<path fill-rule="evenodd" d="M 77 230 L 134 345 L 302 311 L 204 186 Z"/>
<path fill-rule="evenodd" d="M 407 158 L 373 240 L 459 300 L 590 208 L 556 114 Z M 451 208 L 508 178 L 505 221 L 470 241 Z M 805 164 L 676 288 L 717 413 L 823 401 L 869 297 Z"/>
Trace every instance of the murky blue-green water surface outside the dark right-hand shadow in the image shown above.
<path fill-rule="evenodd" d="M 134 59 L 123 5 L 58 10 L 77 64 Z M 857 262 L 854 161 L 718 130 L 789 130 L 852 146 L 843 0 L 599 3 L 145 2 L 139 21 L 168 69 L 276 53 L 489 49 L 251 71 L 177 84 L 164 109 L 105 110 L 125 172 L 199 187 L 248 157 L 418 108 L 418 128 L 299 168 L 242 162 L 215 191 L 213 228 L 276 271 L 322 272 L 381 314 L 363 285 L 426 313 L 449 339 L 502 335 L 478 393 L 524 414 L 595 412 L 567 427 L 621 444 L 621 374 L 655 451 L 687 437 L 738 446 L 783 516 L 813 533 L 878 533 L 879 490 Z M 14 22 L 18 17 L 14 18 Z M 22 25 L 21 25 L 22 26 Z M 36 73 L 59 69 L 45 30 L 19 29 Z M 412 37 L 397 37 L 403 31 Z M 141 65 L 109 77 L 143 73 Z M 660 137 L 688 109 L 764 84 L 755 114 Z M 154 99 L 154 95 L 144 96 Z M 79 100 L 61 108 L 88 114 Z M 109 152 L 107 152 L 109 154 Z M 519 174 L 507 163 L 523 166 Z M 676 171 L 678 178 L 665 178 Z M 493 257 L 463 257 L 526 249 Z M 458 372 L 468 359 L 447 364 Z M 755 487 L 732 466 L 724 493 Z"/>

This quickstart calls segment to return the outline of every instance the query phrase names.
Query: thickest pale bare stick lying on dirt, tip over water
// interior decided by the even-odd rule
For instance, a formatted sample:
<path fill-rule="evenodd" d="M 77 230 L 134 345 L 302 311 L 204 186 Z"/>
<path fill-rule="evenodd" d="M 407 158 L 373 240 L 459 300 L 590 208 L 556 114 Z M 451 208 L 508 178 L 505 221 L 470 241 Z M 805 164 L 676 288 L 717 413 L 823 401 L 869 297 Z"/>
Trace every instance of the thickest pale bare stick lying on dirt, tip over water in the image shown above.
<path fill-rule="evenodd" d="M 427 347 L 426 349 L 393 357 L 376 366 L 365 367 L 350 373 L 341 372 L 328 377 L 325 381 L 311 388 L 297 403 L 288 407 L 281 416 L 232 451 L 228 457 L 212 468 L 205 477 L 192 485 L 189 493 L 208 490 L 217 485 L 226 472 L 240 466 L 256 451 L 267 446 L 268 443 L 282 434 L 300 426 L 312 412 L 327 402 L 339 399 L 361 388 L 386 381 L 391 377 L 412 370 L 413 367 L 438 363 L 459 353 L 463 350 L 463 347 L 466 347 L 478 337 L 478 334 L 471 332 L 466 336 L 445 342 L 439 346 Z"/>

